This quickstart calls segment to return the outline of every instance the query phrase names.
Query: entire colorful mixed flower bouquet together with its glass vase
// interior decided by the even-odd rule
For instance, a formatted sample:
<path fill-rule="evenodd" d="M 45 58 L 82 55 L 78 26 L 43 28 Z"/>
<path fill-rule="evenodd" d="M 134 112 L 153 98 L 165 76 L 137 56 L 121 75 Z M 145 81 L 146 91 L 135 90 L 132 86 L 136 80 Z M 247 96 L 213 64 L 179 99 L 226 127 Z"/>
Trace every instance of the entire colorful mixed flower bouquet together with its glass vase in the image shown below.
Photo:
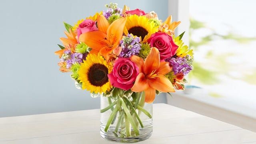
<path fill-rule="evenodd" d="M 79 89 L 101 96 L 100 134 L 108 140 L 135 142 L 152 134 L 152 102 L 160 92 L 184 90 L 193 52 L 174 36 L 180 22 L 164 22 L 152 11 L 121 10 L 117 4 L 78 20 L 64 22 L 67 38 L 55 52 L 61 72 L 71 72 Z"/>

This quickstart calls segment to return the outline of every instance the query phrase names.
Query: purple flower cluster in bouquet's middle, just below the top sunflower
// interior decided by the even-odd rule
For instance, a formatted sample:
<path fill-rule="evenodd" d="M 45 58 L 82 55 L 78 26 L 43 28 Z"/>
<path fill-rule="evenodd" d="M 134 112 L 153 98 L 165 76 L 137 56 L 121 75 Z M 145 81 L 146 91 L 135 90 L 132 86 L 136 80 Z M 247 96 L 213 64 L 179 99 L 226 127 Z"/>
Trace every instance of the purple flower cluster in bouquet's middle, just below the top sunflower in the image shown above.
<path fill-rule="evenodd" d="M 131 34 L 125 36 L 121 41 L 120 45 L 122 51 L 119 55 L 120 58 L 130 58 L 132 55 L 138 55 L 141 50 L 140 38 L 134 38 Z"/>

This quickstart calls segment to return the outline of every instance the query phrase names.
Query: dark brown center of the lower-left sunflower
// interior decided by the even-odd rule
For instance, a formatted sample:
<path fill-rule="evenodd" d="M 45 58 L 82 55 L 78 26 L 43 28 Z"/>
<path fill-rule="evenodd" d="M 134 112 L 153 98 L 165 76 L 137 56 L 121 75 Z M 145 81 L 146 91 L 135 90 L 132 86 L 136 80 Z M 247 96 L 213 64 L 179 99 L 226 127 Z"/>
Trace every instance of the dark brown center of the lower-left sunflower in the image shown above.
<path fill-rule="evenodd" d="M 103 86 L 108 82 L 108 68 L 103 64 L 93 64 L 87 75 L 90 84 L 94 86 Z"/>

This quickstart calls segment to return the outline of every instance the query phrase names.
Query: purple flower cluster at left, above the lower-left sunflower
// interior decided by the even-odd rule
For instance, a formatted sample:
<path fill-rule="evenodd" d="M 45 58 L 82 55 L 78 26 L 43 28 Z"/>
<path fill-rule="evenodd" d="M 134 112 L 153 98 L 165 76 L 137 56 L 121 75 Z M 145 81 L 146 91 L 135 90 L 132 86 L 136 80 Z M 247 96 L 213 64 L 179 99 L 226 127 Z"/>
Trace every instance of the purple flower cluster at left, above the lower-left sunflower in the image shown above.
<path fill-rule="evenodd" d="M 70 68 L 72 64 L 75 63 L 81 63 L 83 60 L 86 59 L 87 53 L 81 54 L 79 52 L 75 52 L 74 54 L 71 54 L 70 50 L 66 50 L 64 54 L 62 55 L 62 58 L 60 61 L 66 62 L 66 68 Z"/>

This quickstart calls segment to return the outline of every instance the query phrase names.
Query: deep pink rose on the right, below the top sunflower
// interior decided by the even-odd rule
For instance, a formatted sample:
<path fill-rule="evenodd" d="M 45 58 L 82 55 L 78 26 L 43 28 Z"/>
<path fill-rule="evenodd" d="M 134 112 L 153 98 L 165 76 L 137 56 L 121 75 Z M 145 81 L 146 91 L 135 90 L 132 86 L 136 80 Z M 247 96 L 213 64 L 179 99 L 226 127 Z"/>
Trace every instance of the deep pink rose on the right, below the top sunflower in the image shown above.
<path fill-rule="evenodd" d="M 156 32 L 148 39 L 151 47 L 156 47 L 160 53 L 160 60 L 174 56 L 178 46 L 174 43 L 172 36 L 164 32 Z"/>

